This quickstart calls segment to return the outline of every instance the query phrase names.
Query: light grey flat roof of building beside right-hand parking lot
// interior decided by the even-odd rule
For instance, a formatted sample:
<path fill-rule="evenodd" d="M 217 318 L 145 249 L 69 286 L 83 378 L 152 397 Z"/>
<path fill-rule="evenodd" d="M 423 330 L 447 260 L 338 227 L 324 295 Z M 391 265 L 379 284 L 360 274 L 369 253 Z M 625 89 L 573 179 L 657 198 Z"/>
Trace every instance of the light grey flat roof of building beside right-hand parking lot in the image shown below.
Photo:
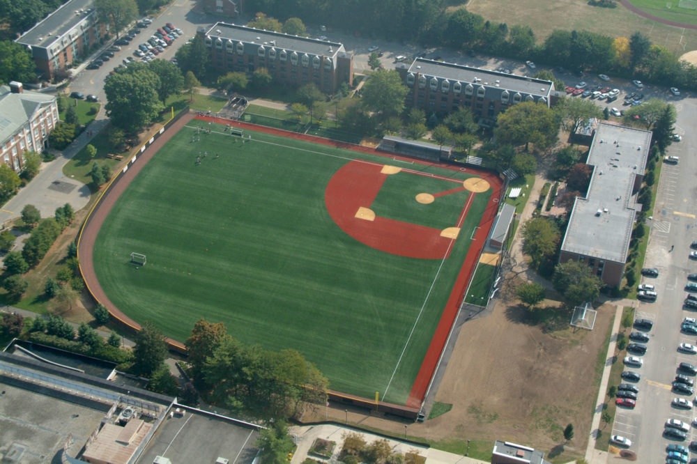
<path fill-rule="evenodd" d="M 576 198 L 562 242 L 570 252 L 624 263 L 636 211 L 636 176 L 643 176 L 651 132 L 600 123 L 588 154 L 594 169 L 585 198 Z"/>

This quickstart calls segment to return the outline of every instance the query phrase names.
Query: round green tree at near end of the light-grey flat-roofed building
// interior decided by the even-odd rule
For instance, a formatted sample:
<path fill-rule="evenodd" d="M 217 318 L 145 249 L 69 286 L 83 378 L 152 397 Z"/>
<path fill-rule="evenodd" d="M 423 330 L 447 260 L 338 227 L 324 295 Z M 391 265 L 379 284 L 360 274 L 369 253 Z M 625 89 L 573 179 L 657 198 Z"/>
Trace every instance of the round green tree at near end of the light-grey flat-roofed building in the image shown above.
<path fill-rule="evenodd" d="M 563 295 L 564 302 L 569 307 L 593 302 L 600 295 L 602 287 L 602 282 L 592 273 L 591 268 L 580 261 L 567 261 L 556 265 L 552 284 Z"/>

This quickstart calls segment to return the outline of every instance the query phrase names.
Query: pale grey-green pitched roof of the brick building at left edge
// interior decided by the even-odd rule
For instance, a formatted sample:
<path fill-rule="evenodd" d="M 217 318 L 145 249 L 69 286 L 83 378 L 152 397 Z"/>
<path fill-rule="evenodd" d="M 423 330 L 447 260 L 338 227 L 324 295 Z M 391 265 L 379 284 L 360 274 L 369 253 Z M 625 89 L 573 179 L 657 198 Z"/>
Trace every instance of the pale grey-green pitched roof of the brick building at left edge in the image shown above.
<path fill-rule="evenodd" d="M 23 91 L 12 93 L 8 86 L 0 86 L 0 144 L 17 133 L 34 114 L 56 100 L 54 95 Z"/>

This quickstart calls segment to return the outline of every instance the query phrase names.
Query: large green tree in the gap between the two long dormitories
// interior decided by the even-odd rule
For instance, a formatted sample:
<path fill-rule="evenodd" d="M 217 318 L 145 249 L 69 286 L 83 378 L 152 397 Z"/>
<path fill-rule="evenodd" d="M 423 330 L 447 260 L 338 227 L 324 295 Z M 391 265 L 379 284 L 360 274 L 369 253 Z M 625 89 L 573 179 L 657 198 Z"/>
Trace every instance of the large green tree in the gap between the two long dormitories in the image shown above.
<path fill-rule="evenodd" d="M 368 109 L 381 114 L 384 119 L 404 111 L 404 99 L 408 91 L 397 71 L 383 70 L 375 72 L 365 82 L 362 100 Z"/>

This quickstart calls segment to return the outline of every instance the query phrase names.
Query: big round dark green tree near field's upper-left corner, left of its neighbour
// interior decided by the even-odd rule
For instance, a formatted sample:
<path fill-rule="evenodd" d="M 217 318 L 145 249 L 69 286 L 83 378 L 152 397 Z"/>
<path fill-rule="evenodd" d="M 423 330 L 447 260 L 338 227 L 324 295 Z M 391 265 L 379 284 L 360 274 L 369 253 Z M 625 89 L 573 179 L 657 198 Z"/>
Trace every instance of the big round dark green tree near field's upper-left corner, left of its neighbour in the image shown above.
<path fill-rule="evenodd" d="M 123 72 L 107 77 L 107 116 L 124 130 L 149 125 L 164 108 L 158 96 L 160 78 L 145 63 L 132 63 Z"/>

